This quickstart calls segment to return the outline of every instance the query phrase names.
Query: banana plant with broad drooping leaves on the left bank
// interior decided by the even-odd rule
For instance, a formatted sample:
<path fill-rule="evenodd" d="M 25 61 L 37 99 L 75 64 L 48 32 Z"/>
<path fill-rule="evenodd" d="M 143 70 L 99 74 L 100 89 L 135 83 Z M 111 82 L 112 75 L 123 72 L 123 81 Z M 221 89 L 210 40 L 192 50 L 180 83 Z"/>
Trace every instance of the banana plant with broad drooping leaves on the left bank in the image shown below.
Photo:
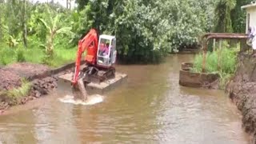
<path fill-rule="evenodd" d="M 50 15 L 49 8 L 46 9 Z M 54 38 L 57 34 L 71 34 L 71 27 L 64 26 L 62 27 L 60 22 L 62 15 L 57 14 L 54 18 L 47 16 L 49 19 L 38 18 L 38 21 L 46 28 L 46 44 L 43 46 L 46 50 L 46 58 L 52 58 L 54 55 Z"/>

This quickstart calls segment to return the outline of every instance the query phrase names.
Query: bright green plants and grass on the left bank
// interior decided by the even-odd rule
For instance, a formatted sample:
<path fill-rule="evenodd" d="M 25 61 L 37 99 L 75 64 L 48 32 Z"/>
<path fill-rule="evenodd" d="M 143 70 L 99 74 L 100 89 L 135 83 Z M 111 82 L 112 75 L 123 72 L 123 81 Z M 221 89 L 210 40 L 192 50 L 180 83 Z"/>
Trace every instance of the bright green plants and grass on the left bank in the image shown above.
<path fill-rule="evenodd" d="M 26 6 L 26 13 L 18 4 Z M 76 50 L 69 43 L 74 34 L 64 18 L 68 12 L 65 8 L 27 1 L 7 1 L 0 3 L 0 8 L 0 65 L 35 62 L 59 66 L 74 62 Z"/>

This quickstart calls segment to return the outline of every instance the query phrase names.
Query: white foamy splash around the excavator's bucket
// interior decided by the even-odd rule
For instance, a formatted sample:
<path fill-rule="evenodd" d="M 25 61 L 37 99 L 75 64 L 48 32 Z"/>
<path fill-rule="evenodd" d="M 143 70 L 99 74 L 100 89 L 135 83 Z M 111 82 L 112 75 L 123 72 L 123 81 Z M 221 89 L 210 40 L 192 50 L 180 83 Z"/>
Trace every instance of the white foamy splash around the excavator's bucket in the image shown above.
<path fill-rule="evenodd" d="M 72 103 L 74 105 L 90 106 L 90 105 L 95 105 L 97 103 L 103 102 L 103 96 L 99 94 L 94 94 L 94 95 L 88 96 L 86 101 L 82 101 L 82 100 L 74 100 L 74 96 L 66 95 L 64 98 L 58 98 L 58 100 L 60 102 Z"/>

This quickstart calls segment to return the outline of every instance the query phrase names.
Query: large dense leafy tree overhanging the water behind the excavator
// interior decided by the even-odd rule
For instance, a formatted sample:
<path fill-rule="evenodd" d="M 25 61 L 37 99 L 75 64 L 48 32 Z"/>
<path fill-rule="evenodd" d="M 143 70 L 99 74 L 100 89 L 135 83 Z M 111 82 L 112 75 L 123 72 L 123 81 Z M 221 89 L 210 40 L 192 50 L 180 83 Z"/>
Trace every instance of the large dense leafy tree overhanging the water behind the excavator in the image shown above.
<path fill-rule="evenodd" d="M 78 6 L 93 11 L 86 17 L 100 33 L 116 35 L 118 58 L 125 62 L 159 62 L 168 52 L 196 48 L 214 21 L 214 1 L 205 0 L 96 0 Z"/>

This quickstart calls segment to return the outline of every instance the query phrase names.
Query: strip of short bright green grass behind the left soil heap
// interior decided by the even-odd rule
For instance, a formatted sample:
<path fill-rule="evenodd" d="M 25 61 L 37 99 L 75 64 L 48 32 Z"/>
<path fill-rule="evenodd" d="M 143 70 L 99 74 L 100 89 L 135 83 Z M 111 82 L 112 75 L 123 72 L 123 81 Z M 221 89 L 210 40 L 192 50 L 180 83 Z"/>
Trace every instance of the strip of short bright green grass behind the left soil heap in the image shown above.
<path fill-rule="evenodd" d="M 58 67 L 67 62 L 75 62 L 76 51 L 76 47 L 62 48 L 58 46 L 54 49 L 53 59 L 47 64 L 51 67 Z M 28 47 L 26 49 L 23 46 L 11 48 L 6 45 L 0 47 L 0 55 L 0 66 L 6 66 L 14 62 L 43 63 L 45 56 L 44 49 L 39 47 Z"/>

